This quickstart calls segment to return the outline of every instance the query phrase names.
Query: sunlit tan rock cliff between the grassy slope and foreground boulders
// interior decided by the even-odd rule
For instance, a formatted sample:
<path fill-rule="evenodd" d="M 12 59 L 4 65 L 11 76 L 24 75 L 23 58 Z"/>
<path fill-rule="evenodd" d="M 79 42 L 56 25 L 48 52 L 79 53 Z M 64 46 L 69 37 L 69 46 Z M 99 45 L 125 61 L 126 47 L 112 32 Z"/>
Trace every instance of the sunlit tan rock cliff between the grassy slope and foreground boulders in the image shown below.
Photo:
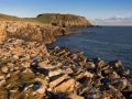
<path fill-rule="evenodd" d="M 70 31 L 67 28 L 52 26 L 48 24 L 21 21 L 0 21 L 0 40 L 16 37 L 51 44 L 56 41 L 55 35 L 67 35 L 70 34 L 70 32 L 74 33 L 78 31 Z"/>

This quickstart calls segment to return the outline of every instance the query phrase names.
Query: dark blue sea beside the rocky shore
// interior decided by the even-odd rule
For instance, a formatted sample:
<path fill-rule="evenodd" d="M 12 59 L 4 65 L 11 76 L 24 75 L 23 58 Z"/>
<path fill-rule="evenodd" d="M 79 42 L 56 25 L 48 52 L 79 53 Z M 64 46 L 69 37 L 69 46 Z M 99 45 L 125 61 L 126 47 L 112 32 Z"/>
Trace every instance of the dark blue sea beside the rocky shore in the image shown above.
<path fill-rule="evenodd" d="M 57 42 L 47 45 L 68 46 L 74 53 L 82 51 L 90 58 L 100 57 L 106 63 L 121 61 L 132 74 L 132 26 L 79 28 L 81 33 L 56 36 Z"/>

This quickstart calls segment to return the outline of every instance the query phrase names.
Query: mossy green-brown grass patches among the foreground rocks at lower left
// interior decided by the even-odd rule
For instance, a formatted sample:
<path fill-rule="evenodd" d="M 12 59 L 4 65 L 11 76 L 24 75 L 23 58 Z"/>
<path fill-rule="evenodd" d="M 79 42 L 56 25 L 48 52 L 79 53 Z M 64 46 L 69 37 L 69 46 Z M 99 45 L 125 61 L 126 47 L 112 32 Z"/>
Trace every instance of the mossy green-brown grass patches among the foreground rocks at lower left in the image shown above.
<path fill-rule="evenodd" d="M 8 63 L 11 63 L 11 61 L 0 59 L 0 66 L 8 66 Z M 14 67 L 19 67 L 20 70 L 23 68 L 23 66 L 21 64 L 16 64 L 16 62 L 13 62 L 12 64 Z M 7 78 L 8 74 L 10 74 L 10 77 Z M 6 78 L 6 84 L 0 86 L 0 99 L 6 99 L 8 97 L 12 99 L 36 99 L 36 96 L 38 95 L 32 95 L 33 94 L 32 88 L 29 88 L 30 90 L 22 92 L 24 85 L 34 84 L 35 78 L 43 79 L 45 80 L 45 84 L 47 84 L 45 76 L 41 74 L 31 73 L 31 72 L 15 73 L 15 72 L 9 70 L 9 73 L 2 73 L 0 70 L 0 76 L 4 76 Z M 10 87 L 7 88 L 8 85 L 10 85 Z M 15 89 L 18 89 L 16 92 L 10 91 Z"/>

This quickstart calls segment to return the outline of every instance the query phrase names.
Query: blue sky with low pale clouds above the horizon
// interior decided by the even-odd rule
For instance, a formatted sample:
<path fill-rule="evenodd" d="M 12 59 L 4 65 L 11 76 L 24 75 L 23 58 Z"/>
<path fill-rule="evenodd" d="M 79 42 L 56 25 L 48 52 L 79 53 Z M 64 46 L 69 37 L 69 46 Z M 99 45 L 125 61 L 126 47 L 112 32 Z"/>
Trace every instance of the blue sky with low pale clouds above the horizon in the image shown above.
<path fill-rule="evenodd" d="M 132 0 L 0 0 L 0 13 L 19 18 L 64 11 L 95 25 L 132 25 Z"/>

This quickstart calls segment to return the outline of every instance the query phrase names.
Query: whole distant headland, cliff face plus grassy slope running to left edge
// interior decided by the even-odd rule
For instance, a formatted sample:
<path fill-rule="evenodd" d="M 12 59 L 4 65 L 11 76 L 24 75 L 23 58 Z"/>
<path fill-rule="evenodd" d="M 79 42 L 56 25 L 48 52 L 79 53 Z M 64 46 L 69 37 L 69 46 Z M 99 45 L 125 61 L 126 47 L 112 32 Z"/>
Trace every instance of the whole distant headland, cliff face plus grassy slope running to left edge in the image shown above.
<path fill-rule="evenodd" d="M 0 21 L 33 22 L 40 24 L 52 24 L 54 26 L 62 26 L 62 28 L 94 26 L 85 16 L 79 16 L 74 14 L 61 14 L 61 13 L 44 13 L 44 14 L 38 14 L 36 18 L 18 18 L 14 15 L 7 15 L 0 13 Z"/>

